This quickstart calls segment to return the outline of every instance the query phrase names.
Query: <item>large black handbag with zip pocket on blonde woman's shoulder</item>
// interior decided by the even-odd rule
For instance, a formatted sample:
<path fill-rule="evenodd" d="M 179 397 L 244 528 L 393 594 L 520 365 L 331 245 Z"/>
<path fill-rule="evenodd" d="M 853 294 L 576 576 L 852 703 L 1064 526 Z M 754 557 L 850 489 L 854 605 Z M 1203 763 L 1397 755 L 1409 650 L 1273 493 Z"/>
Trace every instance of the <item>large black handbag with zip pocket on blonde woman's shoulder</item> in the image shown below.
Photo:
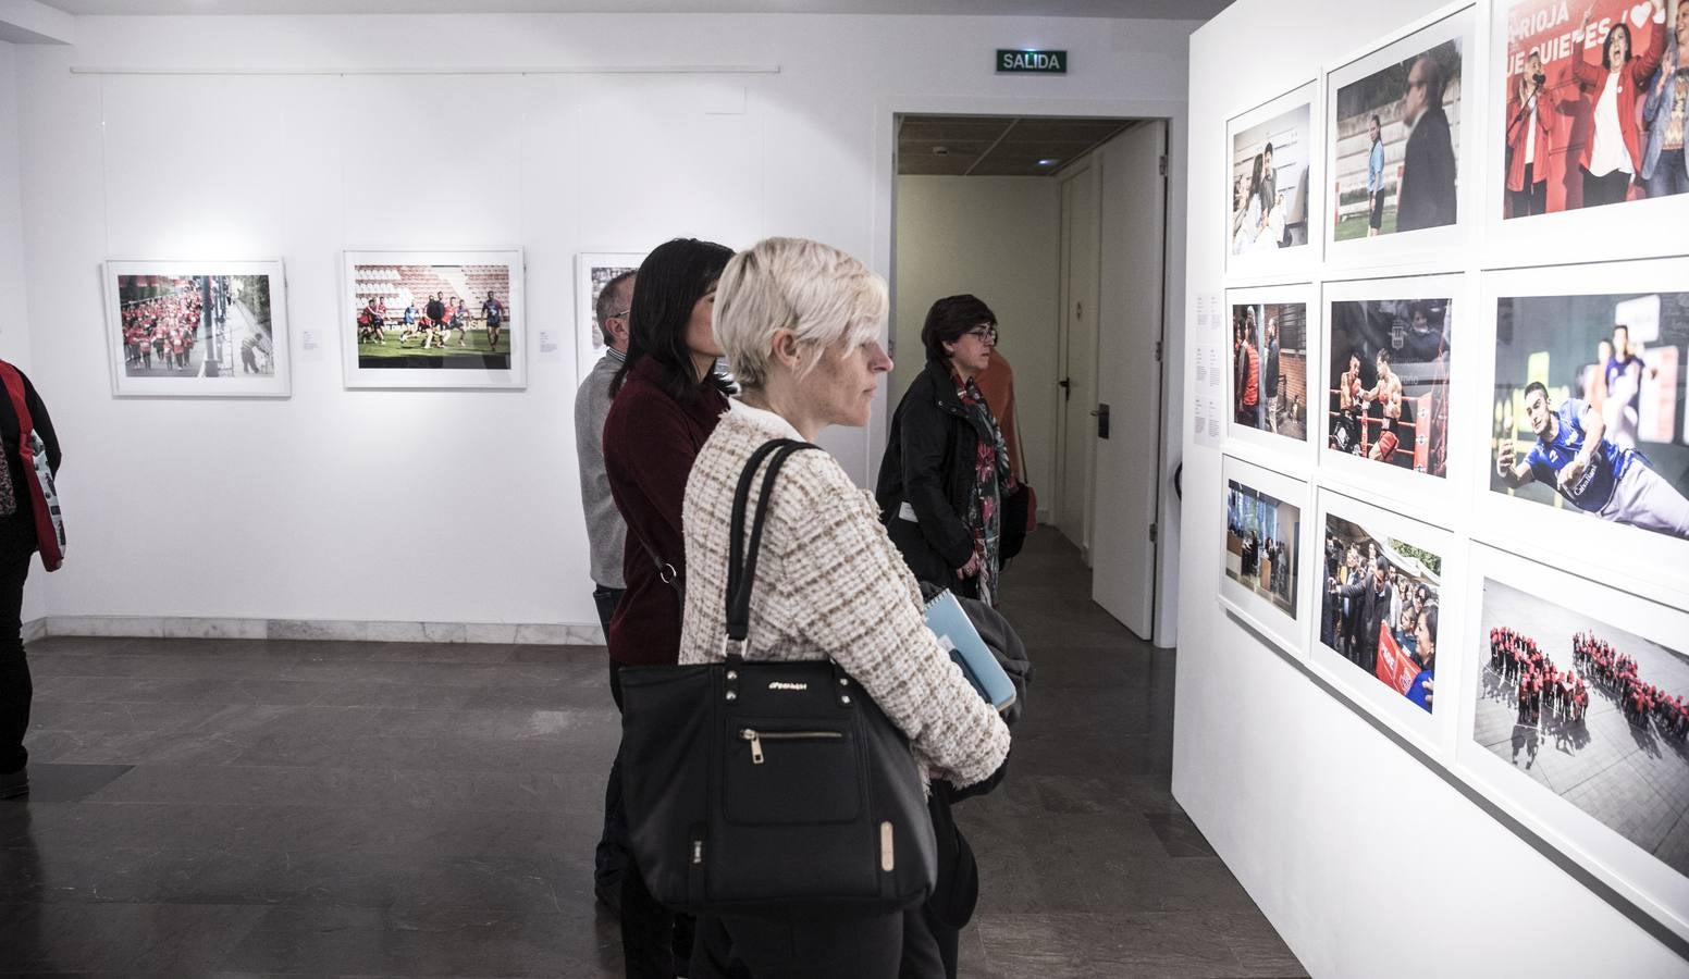
<path fill-rule="evenodd" d="M 750 594 L 780 464 L 733 496 L 726 662 L 622 668 L 622 793 L 652 896 L 696 915 L 888 913 L 927 898 L 932 820 L 909 739 L 831 662 L 748 662 Z M 752 479 L 762 478 L 748 544 Z"/>

